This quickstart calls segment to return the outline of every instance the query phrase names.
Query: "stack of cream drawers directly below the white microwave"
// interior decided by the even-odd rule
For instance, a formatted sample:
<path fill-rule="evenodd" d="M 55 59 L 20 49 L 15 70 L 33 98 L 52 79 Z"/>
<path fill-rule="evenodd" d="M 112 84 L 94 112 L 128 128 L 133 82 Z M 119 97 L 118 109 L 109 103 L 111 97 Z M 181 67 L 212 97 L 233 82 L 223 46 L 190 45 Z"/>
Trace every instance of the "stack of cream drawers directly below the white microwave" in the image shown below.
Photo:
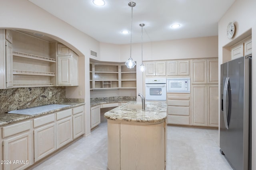
<path fill-rule="evenodd" d="M 190 125 L 190 94 L 168 93 L 168 124 Z"/>

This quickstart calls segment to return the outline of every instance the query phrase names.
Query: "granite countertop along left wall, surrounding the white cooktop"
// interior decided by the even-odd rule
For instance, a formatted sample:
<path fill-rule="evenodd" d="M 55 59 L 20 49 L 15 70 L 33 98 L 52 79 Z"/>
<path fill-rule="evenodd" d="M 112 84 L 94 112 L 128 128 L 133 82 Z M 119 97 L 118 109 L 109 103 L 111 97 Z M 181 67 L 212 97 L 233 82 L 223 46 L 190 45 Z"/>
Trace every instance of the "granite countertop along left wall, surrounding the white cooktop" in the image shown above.
<path fill-rule="evenodd" d="M 83 102 L 64 102 L 64 103 L 58 103 L 58 104 L 65 104 L 65 105 L 70 105 L 70 106 L 62 107 L 62 108 L 54 109 L 54 110 L 50 110 L 50 111 L 45 111 L 45 112 L 38 113 L 38 114 L 35 114 L 35 115 L 0 113 L 0 126 L 7 125 L 7 124 L 10 124 L 10 123 L 16 123 L 16 122 L 23 121 L 23 120 L 26 120 L 26 119 L 31 119 L 31 118 L 34 118 L 34 117 L 39 117 L 39 116 L 42 116 L 42 115 L 47 115 L 47 114 L 50 114 L 50 113 L 54 113 L 56 111 L 61 111 L 61 110 L 69 109 L 69 108 L 72 108 L 72 107 L 82 106 L 85 103 L 83 103 Z"/>

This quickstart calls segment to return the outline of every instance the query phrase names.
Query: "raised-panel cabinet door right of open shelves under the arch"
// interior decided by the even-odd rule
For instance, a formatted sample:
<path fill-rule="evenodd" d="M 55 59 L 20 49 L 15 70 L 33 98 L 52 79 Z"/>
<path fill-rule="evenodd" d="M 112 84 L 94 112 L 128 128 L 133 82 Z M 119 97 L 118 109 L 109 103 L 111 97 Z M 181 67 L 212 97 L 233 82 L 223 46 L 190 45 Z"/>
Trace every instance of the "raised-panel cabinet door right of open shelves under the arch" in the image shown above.
<path fill-rule="evenodd" d="M 58 56 L 58 86 L 71 85 L 71 57 Z"/>

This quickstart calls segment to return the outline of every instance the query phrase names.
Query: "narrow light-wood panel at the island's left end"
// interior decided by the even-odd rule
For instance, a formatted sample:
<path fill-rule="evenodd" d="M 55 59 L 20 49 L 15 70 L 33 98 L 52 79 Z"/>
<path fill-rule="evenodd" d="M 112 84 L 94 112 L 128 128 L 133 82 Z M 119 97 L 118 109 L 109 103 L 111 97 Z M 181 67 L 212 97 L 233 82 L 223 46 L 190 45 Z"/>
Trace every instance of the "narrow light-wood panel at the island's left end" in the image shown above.
<path fill-rule="evenodd" d="M 120 123 L 108 120 L 108 168 L 120 170 Z"/>

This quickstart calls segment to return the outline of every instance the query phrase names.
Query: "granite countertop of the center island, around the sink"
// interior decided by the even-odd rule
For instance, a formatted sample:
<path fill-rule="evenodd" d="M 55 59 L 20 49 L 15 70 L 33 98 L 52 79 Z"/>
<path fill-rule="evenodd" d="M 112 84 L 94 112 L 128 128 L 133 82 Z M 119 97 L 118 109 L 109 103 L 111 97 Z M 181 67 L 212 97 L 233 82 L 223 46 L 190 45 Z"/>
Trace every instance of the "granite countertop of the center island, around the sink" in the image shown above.
<path fill-rule="evenodd" d="M 141 104 L 140 102 L 128 102 L 127 104 Z M 126 104 L 126 105 L 127 105 Z M 142 109 L 122 108 L 126 105 L 116 107 L 104 114 L 104 117 L 116 121 L 161 123 L 167 118 L 166 102 L 145 102 L 145 111 Z"/>

